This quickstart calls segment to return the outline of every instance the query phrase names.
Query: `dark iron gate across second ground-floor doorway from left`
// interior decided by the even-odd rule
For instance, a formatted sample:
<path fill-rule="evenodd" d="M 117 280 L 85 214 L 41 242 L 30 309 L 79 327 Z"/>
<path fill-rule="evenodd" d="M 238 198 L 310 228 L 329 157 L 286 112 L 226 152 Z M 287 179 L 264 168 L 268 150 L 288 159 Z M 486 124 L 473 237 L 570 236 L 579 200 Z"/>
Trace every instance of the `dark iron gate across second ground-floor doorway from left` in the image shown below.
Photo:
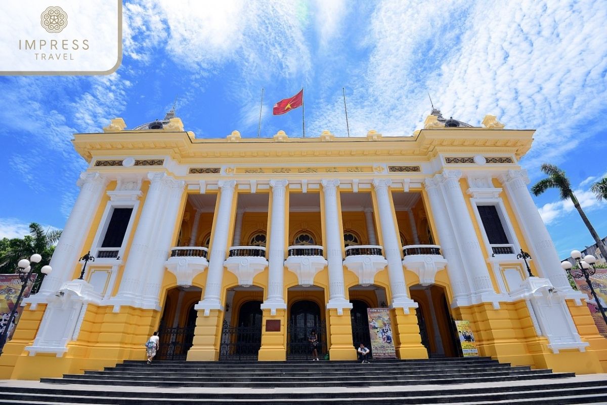
<path fill-rule="evenodd" d="M 262 345 L 262 325 L 232 326 L 223 321 L 220 360 L 257 360 Z"/>

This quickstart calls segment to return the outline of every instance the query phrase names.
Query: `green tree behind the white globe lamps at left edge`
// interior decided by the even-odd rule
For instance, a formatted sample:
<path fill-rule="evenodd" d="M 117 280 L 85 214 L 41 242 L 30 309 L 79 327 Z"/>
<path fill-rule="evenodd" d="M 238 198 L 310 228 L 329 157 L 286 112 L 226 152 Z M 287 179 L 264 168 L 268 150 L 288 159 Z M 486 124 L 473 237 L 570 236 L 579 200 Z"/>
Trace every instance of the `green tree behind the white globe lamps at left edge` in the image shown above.
<path fill-rule="evenodd" d="M 0 240 L 0 273 L 14 273 L 19 260 L 29 259 L 34 253 L 42 256 L 35 271 L 49 264 L 55 251 L 55 243 L 61 236 L 60 230 L 44 230 L 39 223 L 30 223 L 30 234 L 22 238 Z"/>

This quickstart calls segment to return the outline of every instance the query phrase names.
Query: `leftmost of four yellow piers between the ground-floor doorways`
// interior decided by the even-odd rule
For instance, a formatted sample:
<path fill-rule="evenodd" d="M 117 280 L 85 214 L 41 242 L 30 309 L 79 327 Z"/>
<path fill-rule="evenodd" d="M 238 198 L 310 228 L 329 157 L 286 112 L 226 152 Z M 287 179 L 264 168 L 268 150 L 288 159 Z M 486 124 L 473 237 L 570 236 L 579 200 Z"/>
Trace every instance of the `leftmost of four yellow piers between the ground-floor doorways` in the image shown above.
<path fill-rule="evenodd" d="M 194 340 L 188 350 L 188 361 L 215 361 L 219 359 L 223 311 L 210 310 L 209 316 L 198 313 Z"/>

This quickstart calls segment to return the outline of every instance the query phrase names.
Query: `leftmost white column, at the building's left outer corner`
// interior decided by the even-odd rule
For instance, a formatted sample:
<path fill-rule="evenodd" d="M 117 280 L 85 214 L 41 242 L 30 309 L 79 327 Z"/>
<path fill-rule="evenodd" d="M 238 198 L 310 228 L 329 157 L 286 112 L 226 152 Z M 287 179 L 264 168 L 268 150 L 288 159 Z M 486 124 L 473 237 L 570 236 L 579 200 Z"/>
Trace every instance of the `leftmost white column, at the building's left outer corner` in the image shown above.
<path fill-rule="evenodd" d="M 98 172 L 83 172 L 77 184 L 80 186 L 80 194 L 50 259 L 53 271 L 44 277 L 40 294 L 55 294 L 64 282 L 72 278 L 86 234 L 106 189 L 107 179 Z"/>

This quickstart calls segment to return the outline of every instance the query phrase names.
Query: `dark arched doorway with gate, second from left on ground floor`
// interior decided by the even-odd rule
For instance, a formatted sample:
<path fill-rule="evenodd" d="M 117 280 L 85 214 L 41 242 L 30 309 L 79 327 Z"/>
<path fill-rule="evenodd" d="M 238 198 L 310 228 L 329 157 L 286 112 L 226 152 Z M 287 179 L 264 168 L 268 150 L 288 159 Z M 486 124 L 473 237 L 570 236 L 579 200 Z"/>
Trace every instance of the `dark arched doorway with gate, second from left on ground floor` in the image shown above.
<path fill-rule="evenodd" d="M 262 344 L 261 301 L 240 305 L 236 326 L 223 321 L 220 360 L 256 360 Z"/>

